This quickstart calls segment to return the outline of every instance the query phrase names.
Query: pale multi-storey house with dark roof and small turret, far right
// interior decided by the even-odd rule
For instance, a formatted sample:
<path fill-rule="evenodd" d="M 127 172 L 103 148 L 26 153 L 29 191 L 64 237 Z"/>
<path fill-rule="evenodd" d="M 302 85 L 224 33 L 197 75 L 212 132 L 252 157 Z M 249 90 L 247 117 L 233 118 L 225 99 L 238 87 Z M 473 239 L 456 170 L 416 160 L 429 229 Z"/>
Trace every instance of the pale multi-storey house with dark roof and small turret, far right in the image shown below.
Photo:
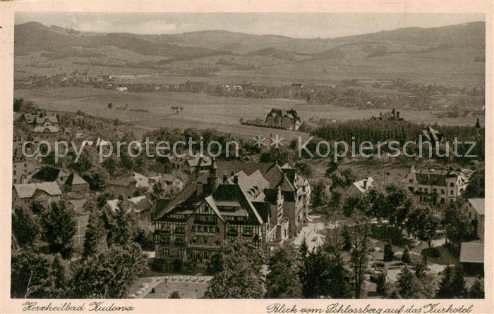
<path fill-rule="evenodd" d="M 419 201 L 450 202 L 464 193 L 472 173 L 469 169 L 415 170 L 412 165 L 405 177 L 406 187 Z"/>

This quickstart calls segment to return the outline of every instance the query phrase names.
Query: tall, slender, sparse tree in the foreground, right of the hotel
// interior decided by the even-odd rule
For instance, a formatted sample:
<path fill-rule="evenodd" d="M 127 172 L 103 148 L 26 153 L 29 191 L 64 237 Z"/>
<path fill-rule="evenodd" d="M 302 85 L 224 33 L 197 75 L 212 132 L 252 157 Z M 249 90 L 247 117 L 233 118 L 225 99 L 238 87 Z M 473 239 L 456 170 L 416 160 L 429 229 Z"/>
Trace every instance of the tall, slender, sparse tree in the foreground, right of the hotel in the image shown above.
<path fill-rule="evenodd" d="M 363 281 L 367 272 L 367 251 L 370 227 L 367 222 L 361 222 L 359 218 L 354 219 L 356 225 L 349 229 L 350 232 L 350 266 L 352 271 L 352 282 L 354 286 L 355 299 L 360 299 L 363 289 Z"/>

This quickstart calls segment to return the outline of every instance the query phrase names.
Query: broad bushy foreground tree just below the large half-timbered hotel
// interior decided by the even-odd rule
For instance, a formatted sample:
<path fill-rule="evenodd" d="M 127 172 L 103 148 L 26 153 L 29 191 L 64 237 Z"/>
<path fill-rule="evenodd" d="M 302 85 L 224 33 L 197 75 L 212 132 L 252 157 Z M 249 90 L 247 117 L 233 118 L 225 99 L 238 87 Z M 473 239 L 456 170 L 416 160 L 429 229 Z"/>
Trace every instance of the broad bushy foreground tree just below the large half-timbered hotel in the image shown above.
<path fill-rule="evenodd" d="M 223 270 L 212 277 L 207 299 L 260 299 L 264 295 L 264 252 L 250 241 L 235 241 L 222 249 Z"/>

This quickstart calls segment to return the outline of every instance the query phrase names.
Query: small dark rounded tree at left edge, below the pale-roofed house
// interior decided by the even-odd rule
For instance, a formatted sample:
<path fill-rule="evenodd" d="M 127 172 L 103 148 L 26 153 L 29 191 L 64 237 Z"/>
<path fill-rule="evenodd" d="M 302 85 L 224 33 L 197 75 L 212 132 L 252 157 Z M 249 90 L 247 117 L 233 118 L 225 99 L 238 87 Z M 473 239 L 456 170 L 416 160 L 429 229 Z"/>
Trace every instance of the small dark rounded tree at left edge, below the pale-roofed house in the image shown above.
<path fill-rule="evenodd" d="M 32 246 L 39 233 L 35 220 L 22 206 L 18 206 L 12 213 L 12 233 L 20 247 Z"/>

